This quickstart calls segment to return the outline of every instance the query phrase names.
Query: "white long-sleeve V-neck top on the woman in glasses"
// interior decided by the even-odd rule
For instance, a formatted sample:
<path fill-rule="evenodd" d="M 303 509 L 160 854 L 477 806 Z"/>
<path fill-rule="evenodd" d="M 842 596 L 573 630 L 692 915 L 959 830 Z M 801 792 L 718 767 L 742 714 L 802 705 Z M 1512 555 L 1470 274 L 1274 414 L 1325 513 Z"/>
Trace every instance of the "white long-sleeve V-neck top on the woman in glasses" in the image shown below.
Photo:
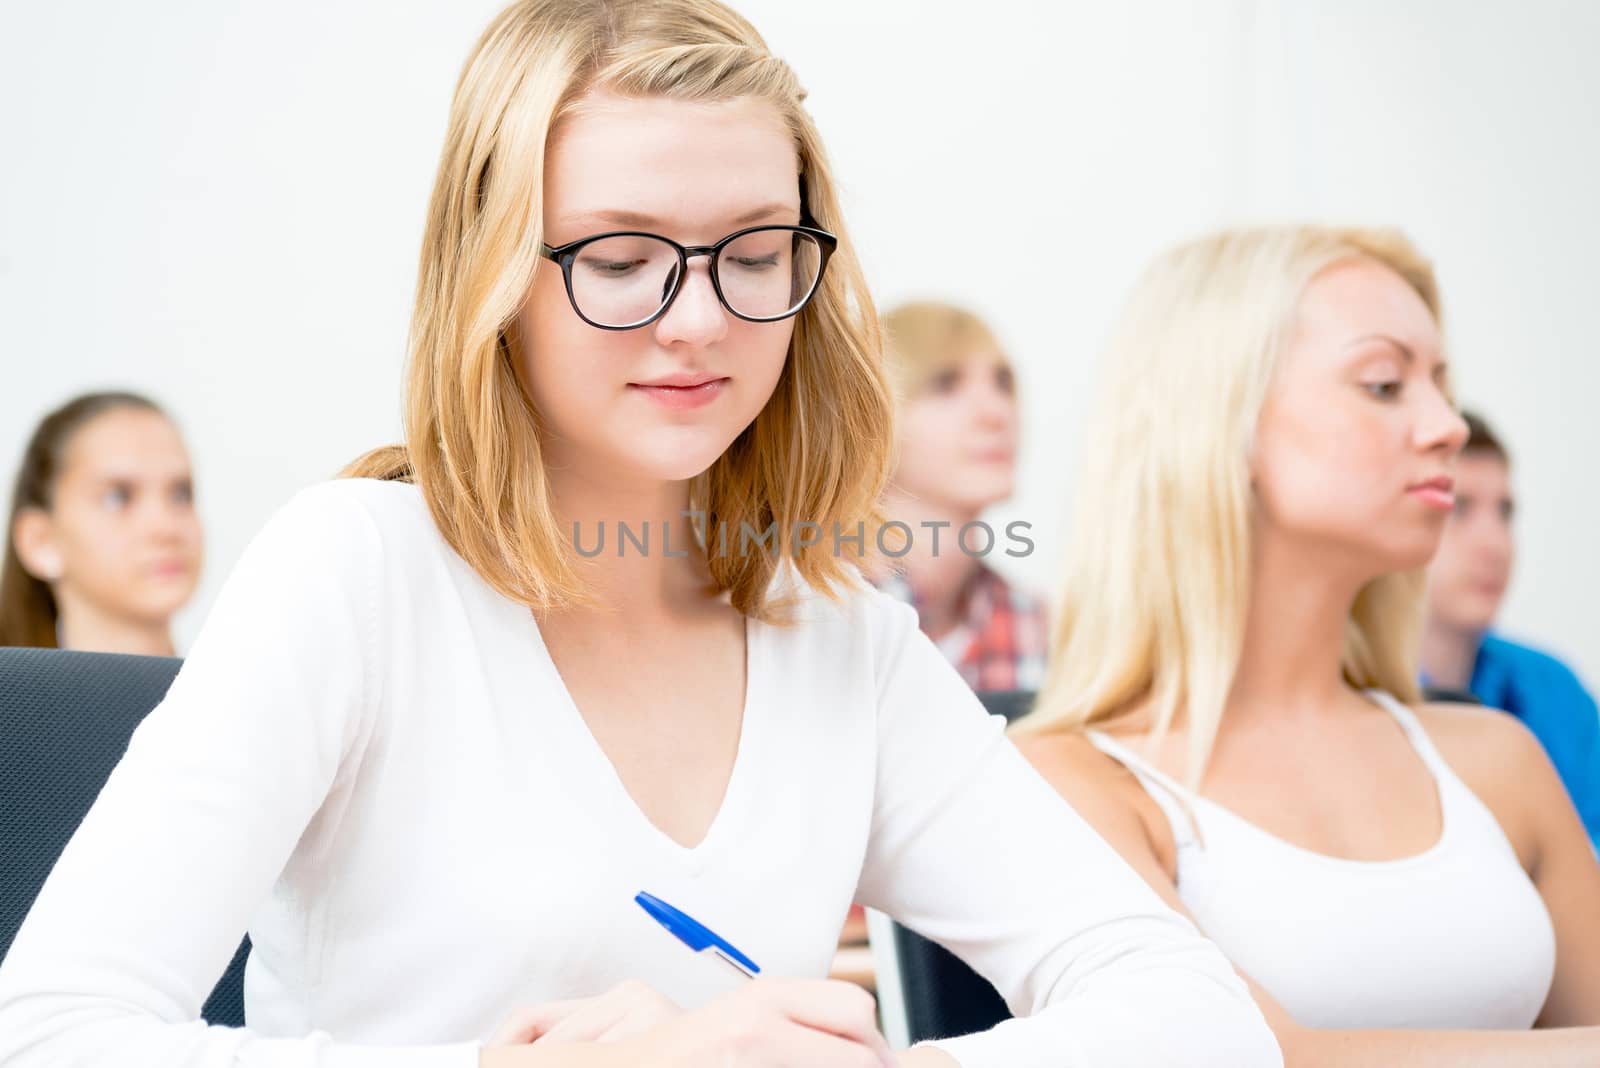
<path fill-rule="evenodd" d="M 693 1007 L 827 974 L 851 899 L 942 942 L 1019 1017 L 966 1068 L 1282 1063 L 1222 954 L 1027 766 L 866 592 L 749 624 L 744 726 L 704 841 L 635 807 L 531 612 L 414 486 L 312 488 L 256 537 L 0 967 L 0 1065 L 474 1068 L 518 1006 L 624 978 Z M 618 664 L 626 671 L 626 664 Z M 248 1026 L 200 1006 L 248 926 Z"/>

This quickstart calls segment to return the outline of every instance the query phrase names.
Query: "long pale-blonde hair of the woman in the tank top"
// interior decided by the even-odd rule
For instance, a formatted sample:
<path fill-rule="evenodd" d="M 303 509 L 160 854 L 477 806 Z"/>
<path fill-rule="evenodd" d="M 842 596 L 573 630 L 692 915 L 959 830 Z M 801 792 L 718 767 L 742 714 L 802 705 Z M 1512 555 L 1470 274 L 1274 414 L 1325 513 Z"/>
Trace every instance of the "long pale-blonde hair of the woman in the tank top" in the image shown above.
<path fill-rule="evenodd" d="M 1243 649 L 1248 456 L 1307 283 L 1370 259 L 1440 320 L 1432 265 L 1395 230 L 1226 230 L 1160 256 L 1109 345 L 1077 483 L 1051 668 L 1018 732 L 1182 713 L 1198 787 Z M 1346 625 L 1352 686 L 1418 699 L 1422 572 L 1371 580 Z"/>

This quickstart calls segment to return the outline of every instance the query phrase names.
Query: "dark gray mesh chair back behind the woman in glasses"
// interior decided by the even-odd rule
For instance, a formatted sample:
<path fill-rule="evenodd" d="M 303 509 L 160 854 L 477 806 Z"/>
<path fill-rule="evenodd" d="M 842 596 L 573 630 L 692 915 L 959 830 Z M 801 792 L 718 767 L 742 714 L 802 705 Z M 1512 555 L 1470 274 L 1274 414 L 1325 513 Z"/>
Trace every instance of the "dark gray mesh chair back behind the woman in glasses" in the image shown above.
<path fill-rule="evenodd" d="M 182 660 L 0 648 L 0 961 L 83 822 L 133 729 Z M 245 958 L 205 1002 L 210 1023 L 245 1026 Z"/>

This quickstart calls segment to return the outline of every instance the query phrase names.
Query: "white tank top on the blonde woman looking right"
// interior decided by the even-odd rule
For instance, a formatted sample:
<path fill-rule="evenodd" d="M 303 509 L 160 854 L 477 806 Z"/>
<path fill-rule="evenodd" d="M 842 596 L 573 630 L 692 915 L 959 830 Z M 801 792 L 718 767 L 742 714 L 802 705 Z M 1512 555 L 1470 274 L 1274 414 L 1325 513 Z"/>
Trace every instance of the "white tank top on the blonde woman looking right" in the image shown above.
<path fill-rule="evenodd" d="M 1528 1028 L 1555 972 L 1544 900 L 1499 823 L 1422 724 L 1387 708 L 1438 788 L 1445 828 L 1400 860 L 1344 860 L 1270 835 L 1090 731 L 1166 814 L 1178 895 L 1200 929 L 1314 1028 Z M 1192 814 L 1192 819 L 1190 819 Z M 1197 833 L 1198 831 L 1198 833 Z"/>

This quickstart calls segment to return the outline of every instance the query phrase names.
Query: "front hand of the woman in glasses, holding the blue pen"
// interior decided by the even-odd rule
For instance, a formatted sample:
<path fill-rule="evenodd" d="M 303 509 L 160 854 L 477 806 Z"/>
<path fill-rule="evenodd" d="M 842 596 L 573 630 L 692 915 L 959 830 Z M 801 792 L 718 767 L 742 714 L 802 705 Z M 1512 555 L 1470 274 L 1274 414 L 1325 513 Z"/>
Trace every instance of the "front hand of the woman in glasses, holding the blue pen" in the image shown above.
<path fill-rule="evenodd" d="M 563 1057 L 565 1054 L 565 1057 Z M 568 1057 L 571 1060 L 568 1060 Z M 854 983 L 757 978 L 627 1039 L 486 1047 L 483 1068 L 573 1063 L 630 1068 L 893 1068 L 872 994 Z"/>

